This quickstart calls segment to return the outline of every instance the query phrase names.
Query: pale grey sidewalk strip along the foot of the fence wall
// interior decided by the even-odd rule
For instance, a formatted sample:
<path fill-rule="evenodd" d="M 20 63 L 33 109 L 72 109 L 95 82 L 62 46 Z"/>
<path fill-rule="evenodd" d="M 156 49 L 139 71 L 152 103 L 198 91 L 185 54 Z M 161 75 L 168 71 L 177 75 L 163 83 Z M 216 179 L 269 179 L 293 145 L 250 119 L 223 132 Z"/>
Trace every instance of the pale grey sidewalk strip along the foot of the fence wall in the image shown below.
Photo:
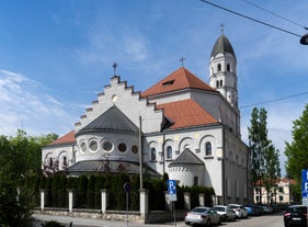
<path fill-rule="evenodd" d="M 82 217 L 70 217 L 70 216 L 50 216 L 50 215 L 39 215 L 34 214 L 33 217 L 35 218 L 35 226 L 42 227 L 42 222 L 49 222 L 49 220 L 57 220 L 58 223 L 65 224 L 69 226 L 72 222 L 72 227 L 185 227 L 183 222 L 179 223 L 166 223 L 166 224 L 138 224 L 138 223 L 127 223 L 127 222 L 119 222 L 119 220 L 103 220 L 96 218 L 82 218 Z"/>

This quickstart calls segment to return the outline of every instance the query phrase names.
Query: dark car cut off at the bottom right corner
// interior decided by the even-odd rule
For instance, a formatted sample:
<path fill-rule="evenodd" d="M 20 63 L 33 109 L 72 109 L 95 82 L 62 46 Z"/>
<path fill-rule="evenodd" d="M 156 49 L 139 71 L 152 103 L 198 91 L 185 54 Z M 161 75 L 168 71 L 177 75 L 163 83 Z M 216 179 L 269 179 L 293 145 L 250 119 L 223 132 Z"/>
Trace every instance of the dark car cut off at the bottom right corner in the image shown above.
<path fill-rule="evenodd" d="M 307 206 L 292 205 L 284 213 L 285 227 L 303 226 L 307 227 Z"/>

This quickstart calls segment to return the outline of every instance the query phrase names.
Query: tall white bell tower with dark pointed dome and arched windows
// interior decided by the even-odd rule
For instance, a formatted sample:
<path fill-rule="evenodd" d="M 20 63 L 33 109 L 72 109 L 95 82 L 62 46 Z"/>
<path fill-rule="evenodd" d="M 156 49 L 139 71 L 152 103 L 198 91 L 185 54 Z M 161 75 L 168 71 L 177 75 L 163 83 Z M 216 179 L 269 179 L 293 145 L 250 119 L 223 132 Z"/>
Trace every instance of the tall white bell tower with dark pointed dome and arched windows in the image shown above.
<path fill-rule="evenodd" d="M 221 34 L 217 38 L 209 59 L 209 86 L 238 109 L 237 57 L 229 39 Z"/>

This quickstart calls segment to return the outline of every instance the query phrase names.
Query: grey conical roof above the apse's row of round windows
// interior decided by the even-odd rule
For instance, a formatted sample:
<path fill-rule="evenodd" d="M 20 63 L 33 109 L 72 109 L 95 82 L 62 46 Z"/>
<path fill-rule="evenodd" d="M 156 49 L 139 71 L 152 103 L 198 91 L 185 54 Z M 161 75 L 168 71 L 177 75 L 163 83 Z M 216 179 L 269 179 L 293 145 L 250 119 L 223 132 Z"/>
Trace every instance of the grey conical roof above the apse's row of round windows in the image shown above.
<path fill-rule="evenodd" d="M 138 127 L 115 105 L 81 128 L 76 136 L 92 132 L 125 132 L 138 134 Z"/>

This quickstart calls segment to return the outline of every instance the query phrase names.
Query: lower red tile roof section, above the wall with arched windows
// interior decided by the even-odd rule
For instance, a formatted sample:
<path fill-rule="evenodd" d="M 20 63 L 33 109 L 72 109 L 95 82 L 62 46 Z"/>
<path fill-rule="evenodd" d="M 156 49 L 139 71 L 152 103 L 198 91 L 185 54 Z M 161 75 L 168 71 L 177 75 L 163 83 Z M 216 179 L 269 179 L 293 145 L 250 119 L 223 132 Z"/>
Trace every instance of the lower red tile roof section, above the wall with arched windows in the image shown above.
<path fill-rule="evenodd" d="M 191 99 L 159 104 L 157 107 L 163 109 L 164 115 L 174 122 L 170 128 L 182 128 L 218 123 L 216 118 Z"/>

